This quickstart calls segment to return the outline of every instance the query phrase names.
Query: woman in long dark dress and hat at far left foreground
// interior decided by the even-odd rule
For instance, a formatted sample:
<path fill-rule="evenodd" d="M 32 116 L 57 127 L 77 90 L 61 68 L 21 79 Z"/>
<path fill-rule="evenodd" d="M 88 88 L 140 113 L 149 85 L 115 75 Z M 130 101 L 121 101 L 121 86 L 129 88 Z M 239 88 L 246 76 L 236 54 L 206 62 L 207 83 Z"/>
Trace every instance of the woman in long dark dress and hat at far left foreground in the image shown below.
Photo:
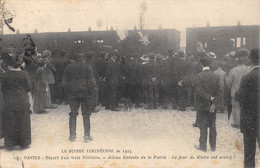
<path fill-rule="evenodd" d="M 3 74 L 1 80 L 4 98 L 4 146 L 26 148 L 31 144 L 30 103 L 28 92 L 31 81 L 27 72 L 21 70 L 23 58 L 12 56 L 10 70 Z"/>

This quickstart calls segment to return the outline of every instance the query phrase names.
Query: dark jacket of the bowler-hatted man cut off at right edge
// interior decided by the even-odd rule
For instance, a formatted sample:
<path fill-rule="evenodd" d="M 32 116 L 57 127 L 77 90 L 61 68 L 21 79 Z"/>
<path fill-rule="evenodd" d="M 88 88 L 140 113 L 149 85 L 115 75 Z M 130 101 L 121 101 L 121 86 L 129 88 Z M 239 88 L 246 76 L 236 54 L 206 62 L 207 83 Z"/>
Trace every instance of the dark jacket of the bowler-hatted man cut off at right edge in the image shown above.
<path fill-rule="evenodd" d="M 236 98 L 240 103 L 240 129 L 255 131 L 260 126 L 259 94 L 260 94 L 260 68 L 254 68 L 242 79 Z"/>

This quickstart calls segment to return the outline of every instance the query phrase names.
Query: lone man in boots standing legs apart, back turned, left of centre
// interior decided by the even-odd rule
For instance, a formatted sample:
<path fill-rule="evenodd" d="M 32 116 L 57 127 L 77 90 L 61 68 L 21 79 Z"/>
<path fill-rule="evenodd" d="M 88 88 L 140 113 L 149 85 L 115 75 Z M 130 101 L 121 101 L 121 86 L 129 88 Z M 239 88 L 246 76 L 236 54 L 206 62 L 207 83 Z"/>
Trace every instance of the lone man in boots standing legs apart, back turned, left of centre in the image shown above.
<path fill-rule="evenodd" d="M 65 69 L 62 84 L 69 95 L 69 104 L 71 112 L 69 113 L 70 141 L 76 139 L 76 121 L 79 106 L 84 124 L 84 140 L 91 141 L 90 136 L 90 115 L 91 115 L 91 98 L 94 90 L 94 76 L 89 64 L 83 62 L 84 53 L 75 53 L 75 62 L 68 65 Z"/>

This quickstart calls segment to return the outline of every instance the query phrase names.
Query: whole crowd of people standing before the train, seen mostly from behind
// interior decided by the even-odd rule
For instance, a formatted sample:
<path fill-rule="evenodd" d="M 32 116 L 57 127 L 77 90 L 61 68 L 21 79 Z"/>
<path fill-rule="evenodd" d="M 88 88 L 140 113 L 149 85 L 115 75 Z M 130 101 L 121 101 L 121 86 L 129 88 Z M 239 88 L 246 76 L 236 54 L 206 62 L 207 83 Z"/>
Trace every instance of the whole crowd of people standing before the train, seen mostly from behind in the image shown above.
<path fill-rule="evenodd" d="M 243 108 L 251 99 L 249 92 L 241 89 L 240 82 L 243 76 L 255 69 L 250 58 L 253 55 L 253 60 L 259 61 L 259 49 L 251 55 L 248 50 L 240 49 L 228 53 L 223 59 L 218 59 L 212 52 L 192 55 L 169 50 L 167 55 L 151 52 L 124 57 L 117 50 L 95 53 L 75 49 L 69 56 L 66 50 L 45 50 L 37 54 L 35 49 L 29 45 L 23 50 L 7 48 L 1 53 L 0 133 L 5 138 L 6 148 L 12 149 L 16 145 L 28 147 L 31 143 L 30 113 L 44 114 L 46 108 L 57 108 L 62 103 L 71 108 L 70 141 L 76 139 L 76 117 L 80 105 L 84 139 L 88 142 L 92 140 L 89 116 L 99 111 L 97 106 L 120 111 L 120 103 L 125 101 L 130 102 L 131 107 L 150 110 L 160 106 L 186 111 L 187 106 L 193 106 L 192 110 L 197 111 L 193 126 L 200 128 L 200 145 L 195 148 L 202 151 L 207 150 L 207 127 L 210 127 L 211 150 L 216 150 L 216 112 L 227 110 L 228 117 L 232 116 L 232 127 L 243 131 L 248 129 L 245 125 L 252 116 L 243 113 Z M 257 63 L 253 66 L 259 67 Z M 254 80 L 251 76 L 244 80 Z M 257 88 L 259 81 L 256 82 L 248 87 Z M 249 99 L 244 100 L 245 95 Z M 248 108 L 250 111 L 251 107 Z M 240 118 L 241 114 L 247 118 Z M 256 120 L 251 126 L 258 130 L 259 111 L 252 115 Z M 244 132 L 247 137 L 252 135 Z M 254 135 L 257 133 L 259 142 L 259 130 Z M 248 138 L 244 141 L 246 147 L 253 140 Z M 245 155 L 252 151 L 252 147 L 249 148 Z M 252 155 L 248 155 L 247 161 L 252 164 Z"/>

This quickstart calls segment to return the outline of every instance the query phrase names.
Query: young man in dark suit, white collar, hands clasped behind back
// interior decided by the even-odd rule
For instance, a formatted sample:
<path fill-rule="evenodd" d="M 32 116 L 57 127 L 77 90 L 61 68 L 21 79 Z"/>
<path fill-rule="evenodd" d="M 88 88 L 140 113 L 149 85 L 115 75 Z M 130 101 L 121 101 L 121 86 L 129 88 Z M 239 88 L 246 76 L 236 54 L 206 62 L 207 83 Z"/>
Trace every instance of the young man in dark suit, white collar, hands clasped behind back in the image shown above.
<path fill-rule="evenodd" d="M 209 69 L 212 59 L 202 53 L 200 61 L 203 65 L 203 71 L 197 77 L 197 108 L 200 138 L 199 146 L 194 146 L 198 150 L 207 151 L 207 127 L 209 131 L 209 142 L 212 151 L 216 150 L 216 112 L 214 110 L 214 100 L 222 91 L 219 85 L 219 77 Z"/>

